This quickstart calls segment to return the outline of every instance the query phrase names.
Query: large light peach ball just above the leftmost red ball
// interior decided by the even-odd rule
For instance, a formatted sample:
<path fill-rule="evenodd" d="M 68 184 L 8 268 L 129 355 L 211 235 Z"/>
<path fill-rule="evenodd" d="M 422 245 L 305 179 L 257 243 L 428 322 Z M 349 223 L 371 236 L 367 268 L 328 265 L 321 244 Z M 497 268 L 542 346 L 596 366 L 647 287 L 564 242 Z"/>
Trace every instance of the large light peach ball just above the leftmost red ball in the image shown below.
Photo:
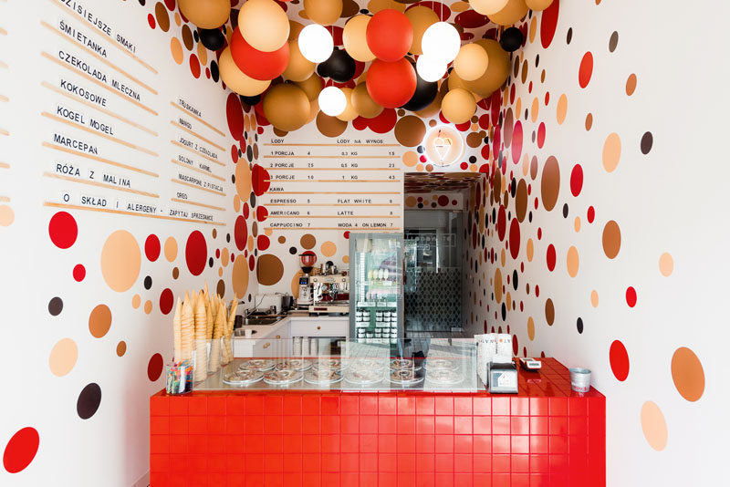
<path fill-rule="evenodd" d="M 276 51 L 289 38 L 287 13 L 274 0 L 248 0 L 238 13 L 238 28 L 251 47 Z"/>

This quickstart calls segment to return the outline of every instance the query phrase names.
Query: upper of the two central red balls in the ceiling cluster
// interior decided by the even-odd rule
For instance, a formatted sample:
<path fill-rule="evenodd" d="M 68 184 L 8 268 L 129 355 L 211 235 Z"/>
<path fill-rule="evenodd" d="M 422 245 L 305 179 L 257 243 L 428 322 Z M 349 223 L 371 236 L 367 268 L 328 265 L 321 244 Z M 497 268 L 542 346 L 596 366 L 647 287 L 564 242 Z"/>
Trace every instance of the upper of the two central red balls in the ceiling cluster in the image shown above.
<path fill-rule="evenodd" d="M 395 62 L 408 54 L 413 42 L 413 26 L 398 10 L 381 10 L 368 23 L 365 39 L 375 57 Z"/>

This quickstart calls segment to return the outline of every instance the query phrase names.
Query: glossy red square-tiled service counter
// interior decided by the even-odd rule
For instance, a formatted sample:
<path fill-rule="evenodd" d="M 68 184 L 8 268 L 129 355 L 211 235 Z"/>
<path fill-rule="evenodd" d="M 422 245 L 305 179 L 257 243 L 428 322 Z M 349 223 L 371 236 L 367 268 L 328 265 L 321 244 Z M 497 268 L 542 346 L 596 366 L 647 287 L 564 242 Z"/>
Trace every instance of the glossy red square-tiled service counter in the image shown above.
<path fill-rule="evenodd" d="M 542 361 L 517 395 L 161 391 L 151 487 L 605 485 L 606 399 Z"/>

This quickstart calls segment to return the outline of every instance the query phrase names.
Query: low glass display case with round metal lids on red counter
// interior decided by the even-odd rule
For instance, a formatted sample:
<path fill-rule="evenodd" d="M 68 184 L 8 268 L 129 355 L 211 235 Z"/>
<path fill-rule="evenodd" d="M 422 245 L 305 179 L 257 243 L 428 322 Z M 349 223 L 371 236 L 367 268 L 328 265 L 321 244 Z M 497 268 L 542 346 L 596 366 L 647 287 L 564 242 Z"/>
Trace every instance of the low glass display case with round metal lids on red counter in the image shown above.
<path fill-rule="evenodd" d="M 284 343 L 269 349 L 273 352 L 270 357 L 235 357 L 195 383 L 194 390 L 483 389 L 476 374 L 476 347 L 470 338 L 408 338 L 396 339 L 395 344 L 355 339 L 328 349 L 328 354 L 308 357 L 276 355 L 276 351 L 287 349 Z M 332 353 L 335 350 L 337 354 Z"/>

